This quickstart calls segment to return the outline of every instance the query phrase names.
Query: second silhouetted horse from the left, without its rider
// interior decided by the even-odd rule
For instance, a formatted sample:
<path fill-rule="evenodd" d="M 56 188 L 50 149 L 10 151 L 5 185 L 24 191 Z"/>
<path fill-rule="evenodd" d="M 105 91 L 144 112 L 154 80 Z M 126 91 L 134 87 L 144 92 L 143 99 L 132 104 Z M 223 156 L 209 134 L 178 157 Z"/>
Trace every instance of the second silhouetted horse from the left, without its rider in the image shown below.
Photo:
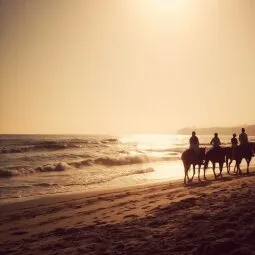
<path fill-rule="evenodd" d="M 209 161 L 211 161 L 212 165 L 213 165 L 214 178 L 216 179 L 218 176 L 222 176 L 223 165 L 224 165 L 224 162 L 225 162 L 225 150 L 224 150 L 224 148 L 221 148 L 221 147 L 213 148 L 213 149 L 210 149 L 205 154 L 204 176 L 205 176 L 205 171 L 208 167 Z M 219 163 L 220 173 L 218 175 L 215 174 L 215 164 L 216 163 Z"/>

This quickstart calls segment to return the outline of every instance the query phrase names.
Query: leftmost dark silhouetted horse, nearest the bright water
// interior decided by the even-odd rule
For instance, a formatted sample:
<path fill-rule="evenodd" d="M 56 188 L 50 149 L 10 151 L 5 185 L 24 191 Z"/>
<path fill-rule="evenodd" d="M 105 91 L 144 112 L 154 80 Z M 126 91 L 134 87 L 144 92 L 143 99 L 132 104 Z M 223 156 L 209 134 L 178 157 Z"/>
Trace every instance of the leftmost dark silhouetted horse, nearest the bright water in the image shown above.
<path fill-rule="evenodd" d="M 198 153 L 192 149 L 187 149 L 182 153 L 181 159 L 182 159 L 182 162 L 184 165 L 184 184 L 187 184 L 187 181 L 191 182 L 193 180 L 194 175 L 195 175 L 196 165 L 198 165 L 198 179 L 199 179 L 199 181 L 201 181 L 200 168 L 201 168 L 201 165 L 203 165 L 204 160 L 205 160 L 205 148 L 199 148 Z M 193 165 L 193 176 L 190 179 L 188 172 L 189 172 L 191 165 Z M 205 178 L 205 176 L 204 176 L 204 178 Z"/>

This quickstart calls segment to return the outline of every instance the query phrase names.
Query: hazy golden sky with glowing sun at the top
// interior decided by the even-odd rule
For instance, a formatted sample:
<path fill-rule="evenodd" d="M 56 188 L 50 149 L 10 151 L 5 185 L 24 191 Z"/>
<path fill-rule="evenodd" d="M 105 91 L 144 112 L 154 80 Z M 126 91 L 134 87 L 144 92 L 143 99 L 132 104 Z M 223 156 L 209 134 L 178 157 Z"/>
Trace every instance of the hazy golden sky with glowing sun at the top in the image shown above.
<path fill-rule="evenodd" d="M 254 124 L 255 0 L 0 0 L 0 133 Z"/>

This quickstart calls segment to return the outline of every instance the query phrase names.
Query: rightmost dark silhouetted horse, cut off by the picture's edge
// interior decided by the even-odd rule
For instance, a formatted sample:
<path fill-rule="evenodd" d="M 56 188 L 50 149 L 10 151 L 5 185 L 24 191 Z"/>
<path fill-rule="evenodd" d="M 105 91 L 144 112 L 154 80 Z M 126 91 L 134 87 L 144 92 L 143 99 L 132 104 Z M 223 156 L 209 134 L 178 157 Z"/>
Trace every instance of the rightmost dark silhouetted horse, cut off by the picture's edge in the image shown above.
<path fill-rule="evenodd" d="M 255 152 L 254 143 L 247 143 L 247 144 L 237 146 L 236 152 L 235 152 L 235 160 L 236 160 L 236 167 L 237 167 L 236 174 L 242 174 L 240 164 L 243 159 L 245 159 L 247 163 L 247 174 L 250 173 L 249 166 L 250 166 L 251 159 L 254 156 L 254 152 Z"/>

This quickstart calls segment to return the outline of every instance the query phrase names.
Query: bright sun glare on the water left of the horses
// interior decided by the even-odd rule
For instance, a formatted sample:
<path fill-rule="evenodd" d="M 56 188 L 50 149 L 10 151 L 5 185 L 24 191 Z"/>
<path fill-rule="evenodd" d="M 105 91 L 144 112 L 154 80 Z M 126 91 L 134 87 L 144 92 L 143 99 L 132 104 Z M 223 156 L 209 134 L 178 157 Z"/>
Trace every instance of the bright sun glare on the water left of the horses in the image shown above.
<path fill-rule="evenodd" d="M 131 154 L 158 158 L 150 164 L 154 171 L 144 177 L 150 182 L 182 178 L 182 164 L 178 159 L 186 140 L 185 136 L 176 134 L 130 134 L 120 138 L 121 143 L 132 146 Z"/>

